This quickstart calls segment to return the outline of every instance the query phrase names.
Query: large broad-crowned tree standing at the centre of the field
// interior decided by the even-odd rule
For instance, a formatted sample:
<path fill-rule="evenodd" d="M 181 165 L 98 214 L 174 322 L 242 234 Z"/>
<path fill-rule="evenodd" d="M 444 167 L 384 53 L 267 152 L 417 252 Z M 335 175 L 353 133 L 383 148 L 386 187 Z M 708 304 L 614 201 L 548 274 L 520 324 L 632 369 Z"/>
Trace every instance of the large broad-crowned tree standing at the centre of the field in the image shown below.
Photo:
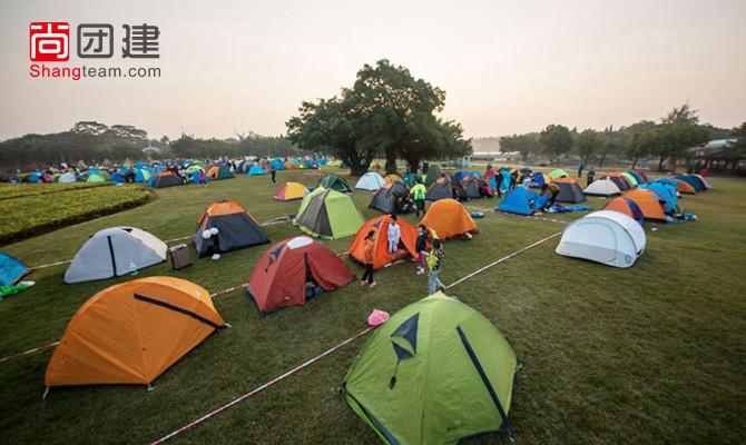
<path fill-rule="evenodd" d="M 377 155 L 386 172 L 396 170 L 397 158 L 416 168 L 421 159 L 471 152 L 461 126 L 436 118 L 444 100 L 445 91 L 384 59 L 365 65 L 338 97 L 303 102 L 286 122 L 287 135 L 301 148 L 333 152 L 353 175 L 367 171 Z"/>

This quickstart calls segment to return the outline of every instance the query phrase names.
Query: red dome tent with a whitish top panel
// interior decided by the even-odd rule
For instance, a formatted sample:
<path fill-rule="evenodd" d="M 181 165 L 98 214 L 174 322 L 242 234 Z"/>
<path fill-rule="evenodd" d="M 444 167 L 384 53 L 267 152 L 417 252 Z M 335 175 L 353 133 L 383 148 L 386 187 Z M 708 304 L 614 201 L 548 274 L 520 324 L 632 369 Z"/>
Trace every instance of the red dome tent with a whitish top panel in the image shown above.
<path fill-rule="evenodd" d="M 246 290 L 264 316 L 283 307 L 303 305 L 307 297 L 338 289 L 353 279 L 355 274 L 336 254 L 320 241 L 300 236 L 279 241 L 264 253 Z M 313 287 L 306 286 L 307 283 Z"/>

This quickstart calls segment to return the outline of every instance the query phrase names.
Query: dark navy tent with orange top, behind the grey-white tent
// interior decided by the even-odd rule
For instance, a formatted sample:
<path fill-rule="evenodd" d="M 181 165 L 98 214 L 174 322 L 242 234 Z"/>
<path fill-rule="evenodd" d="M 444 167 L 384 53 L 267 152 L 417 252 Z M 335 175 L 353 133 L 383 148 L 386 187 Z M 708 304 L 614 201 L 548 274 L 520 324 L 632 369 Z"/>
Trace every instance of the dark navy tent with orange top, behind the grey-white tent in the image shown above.
<path fill-rule="evenodd" d="M 242 249 L 269 243 L 256 219 L 234 201 L 210 204 L 199 216 L 194 241 L 199 258 L 215 253 Z M 216 236 L 205 238 L 206 230 L 217 228 Z"/>

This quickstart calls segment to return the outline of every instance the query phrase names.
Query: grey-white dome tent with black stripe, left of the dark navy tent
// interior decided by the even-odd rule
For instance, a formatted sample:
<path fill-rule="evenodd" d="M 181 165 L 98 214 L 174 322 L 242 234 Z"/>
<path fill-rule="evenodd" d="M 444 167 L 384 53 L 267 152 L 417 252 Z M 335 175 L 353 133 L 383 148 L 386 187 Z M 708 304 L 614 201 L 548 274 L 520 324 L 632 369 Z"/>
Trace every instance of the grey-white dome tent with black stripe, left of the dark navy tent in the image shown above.
<path fill-rule="evenodd" d="M 65 283 L 92 281 L 166 260 L 166 243 L 134 227 L 112 227 L 90 237 L 72 258 Z"/>

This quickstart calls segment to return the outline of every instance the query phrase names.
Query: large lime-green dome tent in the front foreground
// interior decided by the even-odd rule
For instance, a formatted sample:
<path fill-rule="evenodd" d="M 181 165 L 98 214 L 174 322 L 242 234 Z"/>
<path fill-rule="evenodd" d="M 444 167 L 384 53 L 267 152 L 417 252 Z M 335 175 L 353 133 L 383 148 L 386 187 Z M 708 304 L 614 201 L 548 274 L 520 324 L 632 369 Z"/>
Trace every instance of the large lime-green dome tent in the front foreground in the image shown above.
<path fill-rule="evenodd" d="M 500 330 L 438 293 L 381 325 L 350 367 L 342 394 L 386 444 L 444 444 L 510 432 L 520 364 Z"/>

